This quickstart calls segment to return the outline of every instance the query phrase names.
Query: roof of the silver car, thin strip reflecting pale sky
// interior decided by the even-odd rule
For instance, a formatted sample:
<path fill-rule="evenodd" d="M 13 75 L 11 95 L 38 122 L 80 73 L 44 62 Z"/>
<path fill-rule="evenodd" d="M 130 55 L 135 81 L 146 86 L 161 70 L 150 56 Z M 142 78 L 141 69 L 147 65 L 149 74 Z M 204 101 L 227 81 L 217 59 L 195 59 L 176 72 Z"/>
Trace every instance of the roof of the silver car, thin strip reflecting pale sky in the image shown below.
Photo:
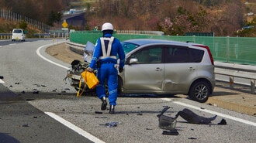
<path fill-rule="evenodd" d="M 198 43 L 184 43 L 184 42 L 177 42 L 177 41 L 171 41 L 171 40 L 165 40 L 165 39 L 128 39 L 123 41 L 125 43 L 133 43 L 138 46 L 143 46 L 143 45 L 148 45 L 148 44 L 153 44 L 153 43 L 163 43 L 163 44 L 182 44 L 182 45 L 187 45 L 187 46 L 192 46 L 193 44 L 196 45 L 202 45 Z"/>

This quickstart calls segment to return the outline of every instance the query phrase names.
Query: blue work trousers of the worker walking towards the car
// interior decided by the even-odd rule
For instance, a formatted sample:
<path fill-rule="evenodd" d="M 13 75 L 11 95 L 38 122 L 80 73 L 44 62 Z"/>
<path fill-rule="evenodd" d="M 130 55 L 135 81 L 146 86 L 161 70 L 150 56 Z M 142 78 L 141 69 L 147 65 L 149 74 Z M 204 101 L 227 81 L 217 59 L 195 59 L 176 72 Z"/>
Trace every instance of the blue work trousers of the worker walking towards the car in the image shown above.
<path fill-rule="evenodd" d="M 106 97 L 105 82 L 109 87 L 109 104 L 116 106 L 118 77 L 115 63 L 102 63 L 98 69 L 97 77 L 99 84 L 96 87 L 96 94 L 99 99 Z"/>

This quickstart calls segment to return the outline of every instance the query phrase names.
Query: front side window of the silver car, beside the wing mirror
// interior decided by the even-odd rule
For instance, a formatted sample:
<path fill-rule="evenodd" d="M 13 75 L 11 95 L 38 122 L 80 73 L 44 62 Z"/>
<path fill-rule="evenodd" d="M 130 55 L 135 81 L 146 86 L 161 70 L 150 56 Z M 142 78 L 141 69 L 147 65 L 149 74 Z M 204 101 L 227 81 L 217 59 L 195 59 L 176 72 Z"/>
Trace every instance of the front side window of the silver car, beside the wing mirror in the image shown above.
<path fill-rule="evenodd" d="M 131 58 L 136 58 L 137 63 L 161 63 L 161 46 L 150 46 L 147 49 L 142 49 L 131 55 Z"/>

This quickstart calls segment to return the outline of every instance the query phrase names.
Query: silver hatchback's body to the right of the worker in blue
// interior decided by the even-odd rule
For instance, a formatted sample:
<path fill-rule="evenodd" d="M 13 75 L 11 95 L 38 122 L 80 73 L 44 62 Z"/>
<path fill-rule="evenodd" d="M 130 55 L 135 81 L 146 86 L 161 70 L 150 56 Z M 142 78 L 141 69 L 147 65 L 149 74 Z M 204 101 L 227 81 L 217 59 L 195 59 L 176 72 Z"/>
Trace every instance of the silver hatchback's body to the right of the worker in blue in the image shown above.
<path fill-rule="evenodd" d="M 206 102 L 215 87 L 213 56 L 208 46 L 160 39 L 123 42 L 126 63 L 119 73 L 125 94 L 185 94 Z"/>

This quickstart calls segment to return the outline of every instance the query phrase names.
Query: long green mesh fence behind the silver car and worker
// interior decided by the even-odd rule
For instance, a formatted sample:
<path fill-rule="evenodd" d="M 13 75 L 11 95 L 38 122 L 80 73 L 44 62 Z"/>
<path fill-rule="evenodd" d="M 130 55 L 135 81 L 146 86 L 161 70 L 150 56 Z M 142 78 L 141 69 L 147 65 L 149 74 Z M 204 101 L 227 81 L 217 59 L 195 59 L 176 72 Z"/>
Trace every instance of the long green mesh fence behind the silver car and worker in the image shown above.
<path fill-rule="evenodd" d="M 73 43 L 85 44 L 87 41 L 95 43 L 102 36 L 102 32 L 71 32 L 70 40 Z M 126 39 L 167 39 L 179 42 L 192 42 L 209 46 L 216 61 L 256 65 L 256 38 L 230 36 L 159 36 L 144 34 L 114 33 L 120 41 Z"/>

